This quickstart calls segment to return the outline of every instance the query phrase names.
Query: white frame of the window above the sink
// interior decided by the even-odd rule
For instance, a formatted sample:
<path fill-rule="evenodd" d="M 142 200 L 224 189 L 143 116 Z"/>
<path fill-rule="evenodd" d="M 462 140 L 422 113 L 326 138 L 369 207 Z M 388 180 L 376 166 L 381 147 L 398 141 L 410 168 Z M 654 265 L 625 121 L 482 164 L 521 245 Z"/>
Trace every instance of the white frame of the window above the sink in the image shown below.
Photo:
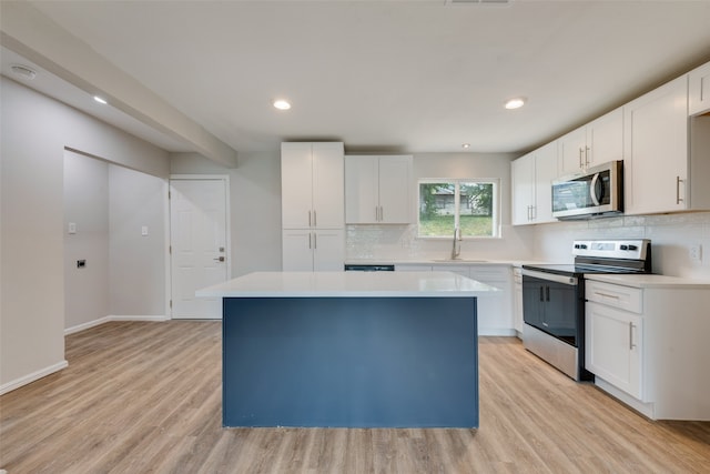
<path fill-rule="evenodd" d="M 422 235 L 422 184 L 454 184 L 454 228 L 456 228 L 460 226 L 462 183 L 485 183 L 493 185 L 491 235 L 462 235 L 462 240 L 489 240 L 503 238 L 500 226 L 500 178 L 420 178 L 417 180 L 417 239 L 450 240 L 454 236 L 454 229 L 452 229 L 450 235 Z"/>

